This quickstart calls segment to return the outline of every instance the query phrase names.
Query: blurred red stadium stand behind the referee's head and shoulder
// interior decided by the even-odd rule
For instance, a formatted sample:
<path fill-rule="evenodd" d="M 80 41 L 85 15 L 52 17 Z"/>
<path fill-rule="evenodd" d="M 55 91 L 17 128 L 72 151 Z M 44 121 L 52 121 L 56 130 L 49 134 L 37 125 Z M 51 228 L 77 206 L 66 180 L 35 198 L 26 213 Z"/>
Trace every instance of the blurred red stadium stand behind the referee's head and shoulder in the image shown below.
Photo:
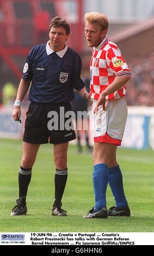
<path fill-rule="evenodd" d="M 27 53 L 36 44 L 48 40 L 48 23 L 54 16 L 67 19 L 72 36 L 69 46 L 82 51 L 82 1 L 78 4 L 76 22 L 70 22 L 69 10 L 64 0 L 1 0 L 0 1 L 0 64 L 1 84 L 18 84 Z M 82 31 L 82 33 L 81 33 Z M 78 40 L 73 35 L 78 34 Z"/>

